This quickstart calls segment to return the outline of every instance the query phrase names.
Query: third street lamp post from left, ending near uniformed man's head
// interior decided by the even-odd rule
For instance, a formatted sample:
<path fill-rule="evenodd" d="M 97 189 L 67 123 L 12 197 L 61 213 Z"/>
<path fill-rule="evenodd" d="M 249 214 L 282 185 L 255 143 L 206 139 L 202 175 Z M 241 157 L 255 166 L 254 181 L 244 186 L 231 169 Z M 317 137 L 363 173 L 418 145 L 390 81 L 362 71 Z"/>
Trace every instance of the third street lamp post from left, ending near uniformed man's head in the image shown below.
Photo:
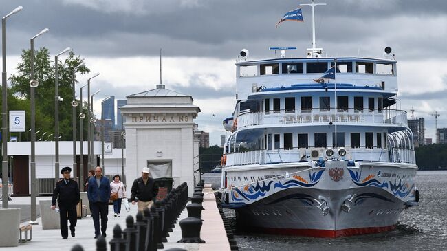
<path fill-rule="evenodd" d="M 68 52 L 70 47 L 65 48 L 61 53 L 54 56 L 54 184 L 59 179 L 59 85 L 58 85 L 58 56 Z"/>

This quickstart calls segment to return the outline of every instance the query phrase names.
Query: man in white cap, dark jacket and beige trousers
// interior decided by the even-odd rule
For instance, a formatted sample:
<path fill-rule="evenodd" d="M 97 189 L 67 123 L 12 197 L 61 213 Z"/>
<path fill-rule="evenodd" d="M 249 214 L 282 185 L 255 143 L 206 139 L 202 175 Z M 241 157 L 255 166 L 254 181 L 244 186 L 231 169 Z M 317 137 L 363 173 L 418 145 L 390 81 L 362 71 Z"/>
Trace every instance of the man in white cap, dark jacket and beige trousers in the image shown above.
<path fill-rule="evenodd" d="M 142 170 L 141 177 L 135 179 L 131 189 L 131 201 L 135 205 L 135 197 L 138 198 L 138 210 L 142 211 L 144 208 L 150 208 L 153 204 L 153 199 L 157 196 L 158 186 L 155 184 L 153 178 L 149 177 L 149 168 L 145 167 Z"/>

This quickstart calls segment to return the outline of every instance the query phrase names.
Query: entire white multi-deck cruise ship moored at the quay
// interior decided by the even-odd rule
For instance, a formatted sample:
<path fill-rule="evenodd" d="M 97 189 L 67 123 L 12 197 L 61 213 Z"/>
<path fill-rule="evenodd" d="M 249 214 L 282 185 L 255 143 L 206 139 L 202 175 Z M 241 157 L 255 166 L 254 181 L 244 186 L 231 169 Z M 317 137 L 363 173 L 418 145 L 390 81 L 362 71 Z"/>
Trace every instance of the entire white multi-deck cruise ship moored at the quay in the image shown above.
<path fill-rule="evenodd" d="M 315 39 L 303 58 L 272 49 L 257 61 L 244 49 L 236 63 L 223 207 L 236 210 L 238 226 L 272 234 L 393 230 L 419 193 L 391 48 L 382 58 L 324 56 Z"/>

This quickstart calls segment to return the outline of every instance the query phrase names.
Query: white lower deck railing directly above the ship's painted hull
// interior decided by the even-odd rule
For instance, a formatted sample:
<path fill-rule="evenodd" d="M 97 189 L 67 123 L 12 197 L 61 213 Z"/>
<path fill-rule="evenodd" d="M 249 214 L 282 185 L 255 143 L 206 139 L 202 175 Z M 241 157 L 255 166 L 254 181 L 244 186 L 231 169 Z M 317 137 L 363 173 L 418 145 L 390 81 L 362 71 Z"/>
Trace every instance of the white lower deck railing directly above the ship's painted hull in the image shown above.
<path fill-rule="evenodd" d="M 362 160 L 373 162 L 392 162 L 415 164 L 415 151 L 411 149 L 382 149 L 366 147 L 344 146 L 347 151 L 345 157 L 338 157 L 339 160 Z M 239 153 L 228 153 L 226 166 L 243 166 L 249 164 L 276 164 L 288 162 L 300 162 L 303 160 L 318 160 L 323 157 L 325 160 L 324 147 L 294 148 L 294 149 L 274 149 L 274 150 L 252 150 Z M 318 157 L 311 157 L 311 152 L 317 150 Z"/>

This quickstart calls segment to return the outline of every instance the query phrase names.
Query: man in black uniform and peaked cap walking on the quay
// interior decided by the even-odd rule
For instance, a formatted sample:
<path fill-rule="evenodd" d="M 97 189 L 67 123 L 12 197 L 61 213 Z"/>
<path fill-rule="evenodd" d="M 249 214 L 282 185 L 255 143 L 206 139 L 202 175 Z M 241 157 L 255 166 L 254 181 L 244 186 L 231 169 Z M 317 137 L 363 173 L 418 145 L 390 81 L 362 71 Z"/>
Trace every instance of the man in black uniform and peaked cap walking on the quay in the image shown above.
<path fill-rule="evenodd" d="M 70 173 L 72 168 L 65 166 L 62 168 L 61 173 L 63 179 L 56 183 L 56 187 L 53 191 L 53 199 L 51 209 L 56 208 L 56 199 L 59 206 L 59 218 L 61 219 L 61 235 L 62 239 L 68 238 L 68 226 L 67 226 L 67 213 L 70 221 L 70 232 L 74 237 L 74 227 L 78 221 L 76 215 L 76 205 L 79 203 L 80 194 L 78 182 L 70 179 Z"/>

